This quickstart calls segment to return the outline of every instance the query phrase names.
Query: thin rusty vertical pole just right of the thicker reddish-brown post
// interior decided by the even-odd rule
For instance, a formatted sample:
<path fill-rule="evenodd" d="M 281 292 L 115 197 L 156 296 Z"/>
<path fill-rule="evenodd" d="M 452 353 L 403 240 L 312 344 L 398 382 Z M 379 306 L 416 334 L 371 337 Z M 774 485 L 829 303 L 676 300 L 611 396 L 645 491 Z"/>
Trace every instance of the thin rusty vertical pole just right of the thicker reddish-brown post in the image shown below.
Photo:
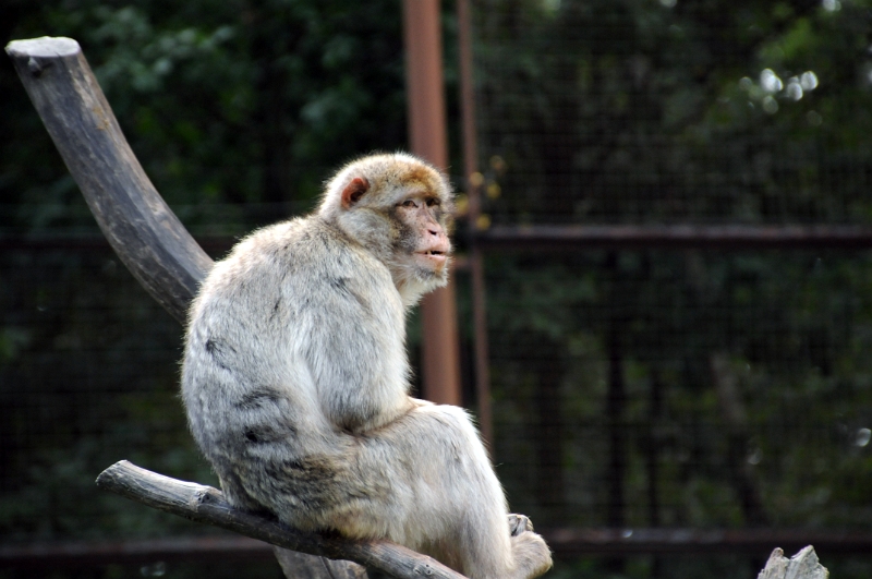
<path fill-rule="evenodd" d="M 472 174 L 479 171 L 479 147 L 475 134 L 475 93 L 472 81 L 472 36 L 470 0 L 457 0 L 458 53 L 460 58 L 460 114 L 463 134 L 463 169 L 469 195 L 469 227 L 477 227 L 482 213 L 482 190 Z M 482 251 L 472 238 L 470 275 L 472 281 L 472 321 L 475 336 L 475 397 L 479 400 L 479 427 L 488 444 L 494 441 L 491 413 L 491 357 L 487 343 L 484 263 Z"/>

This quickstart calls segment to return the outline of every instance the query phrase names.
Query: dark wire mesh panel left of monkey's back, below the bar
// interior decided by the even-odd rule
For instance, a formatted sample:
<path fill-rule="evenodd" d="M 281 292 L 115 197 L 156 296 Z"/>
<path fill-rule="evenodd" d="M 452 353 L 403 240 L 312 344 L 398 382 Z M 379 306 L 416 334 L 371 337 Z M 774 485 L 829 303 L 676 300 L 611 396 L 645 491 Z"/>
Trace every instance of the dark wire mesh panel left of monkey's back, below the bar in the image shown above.
<path fill-rule="evenodd" d="M 181 327 L 108 244 L 7 250 L 0 279 L 3 540 L 204 532 L 94 484 L 121 459 L 216 483 L 177 396 Z"/>

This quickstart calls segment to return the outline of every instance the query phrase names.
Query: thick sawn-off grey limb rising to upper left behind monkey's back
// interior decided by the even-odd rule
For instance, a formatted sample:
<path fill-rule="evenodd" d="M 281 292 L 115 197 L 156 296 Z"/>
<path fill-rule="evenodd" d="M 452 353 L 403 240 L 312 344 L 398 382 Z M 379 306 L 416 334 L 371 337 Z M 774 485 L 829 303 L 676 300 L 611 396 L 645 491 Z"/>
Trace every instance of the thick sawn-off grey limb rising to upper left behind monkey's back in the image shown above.
<path fill-rule="evenodd" d="M 179 322 L 213 262 L 133 155 L 78 43 L 15 40 L 7 52 L 121 261 Z"/>

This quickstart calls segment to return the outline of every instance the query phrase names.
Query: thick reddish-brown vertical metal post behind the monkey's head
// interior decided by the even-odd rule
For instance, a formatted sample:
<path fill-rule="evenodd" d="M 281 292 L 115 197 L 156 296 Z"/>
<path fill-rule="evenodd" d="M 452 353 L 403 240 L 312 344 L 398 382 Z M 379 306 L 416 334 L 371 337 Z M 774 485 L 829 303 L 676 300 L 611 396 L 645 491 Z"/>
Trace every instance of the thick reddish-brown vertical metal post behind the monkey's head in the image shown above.
<path fill-rule="evenodd" d="M 443 45 L 438 0 L 403 0 L 409 140 L 412 153 L 448 167 L 448 137 L 443 82 Z M 423 397 L 461 403 L 460 347 L 455 285 L 434 291 L 421 303 Z"/>

